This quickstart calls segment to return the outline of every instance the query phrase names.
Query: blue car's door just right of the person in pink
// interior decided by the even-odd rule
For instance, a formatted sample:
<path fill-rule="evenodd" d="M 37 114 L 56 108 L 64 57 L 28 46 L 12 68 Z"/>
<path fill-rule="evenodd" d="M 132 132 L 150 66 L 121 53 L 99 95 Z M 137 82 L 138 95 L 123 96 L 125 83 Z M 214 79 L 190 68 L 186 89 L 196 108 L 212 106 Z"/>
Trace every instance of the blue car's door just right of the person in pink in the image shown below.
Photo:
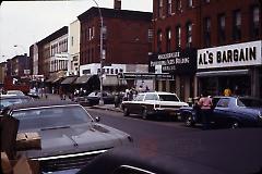
<path fill-rule="evenodd" d="M 212 121 L 219 125 L 226 125 L 229 121 L 230 98 L 221 98 L 213 110 Z"/>

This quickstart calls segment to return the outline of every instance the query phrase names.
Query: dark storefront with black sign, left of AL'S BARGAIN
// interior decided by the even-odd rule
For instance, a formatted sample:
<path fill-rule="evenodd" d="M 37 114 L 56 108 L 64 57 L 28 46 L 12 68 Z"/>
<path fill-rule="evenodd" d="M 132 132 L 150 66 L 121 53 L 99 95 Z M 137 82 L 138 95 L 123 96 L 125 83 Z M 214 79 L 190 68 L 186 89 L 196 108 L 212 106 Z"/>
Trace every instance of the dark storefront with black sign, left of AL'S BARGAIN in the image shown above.
<path fill-rule="evenodd" d="M 168 73 L 174 79 L 158 80 L 156 90 L 176 92 L 188 101 L 194 95 L 194 74 L 196 71 L 196 50 L 183 49 L 164 54 L 153 54 L 150 59 L 150 71 Z"/>

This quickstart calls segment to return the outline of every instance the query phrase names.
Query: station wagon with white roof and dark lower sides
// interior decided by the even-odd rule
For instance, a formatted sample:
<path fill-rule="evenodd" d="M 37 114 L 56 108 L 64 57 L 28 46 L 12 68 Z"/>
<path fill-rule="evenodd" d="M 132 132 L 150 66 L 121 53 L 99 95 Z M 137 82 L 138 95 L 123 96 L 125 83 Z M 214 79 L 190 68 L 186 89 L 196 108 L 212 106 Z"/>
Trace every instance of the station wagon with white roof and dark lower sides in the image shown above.
<path fill-rule="evenodd" d="M 177 119 L 179 108 L 188 107 L 180 101 L 176 94 L 171 92 L 141 92 L 132 101 L 122 102 L 123 115 L 141 114 L 143 119 L 152 115 L 164 115 Z"/>

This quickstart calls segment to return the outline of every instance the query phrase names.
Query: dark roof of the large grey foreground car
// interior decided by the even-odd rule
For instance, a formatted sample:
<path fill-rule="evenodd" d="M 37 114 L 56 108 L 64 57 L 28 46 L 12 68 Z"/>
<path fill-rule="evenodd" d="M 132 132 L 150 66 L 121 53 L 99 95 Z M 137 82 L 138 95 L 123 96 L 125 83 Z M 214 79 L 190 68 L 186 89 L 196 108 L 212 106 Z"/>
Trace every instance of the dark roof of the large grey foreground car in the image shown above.
<path fill-rule="evenodd" d="M 68 100 L 37 100 L 37 101 L 28 101 L 24 103 L 16 103 L 9 105 L 8 108 L 11 110 L 19 110 L 19 109 L 26 109 L 26 108 L 38 108 L 38 107 L 55 107 L 55 105 L 69 105 L 69 104 L 75 104 L 80 105 L 76 102 L 68 101 Z"/>

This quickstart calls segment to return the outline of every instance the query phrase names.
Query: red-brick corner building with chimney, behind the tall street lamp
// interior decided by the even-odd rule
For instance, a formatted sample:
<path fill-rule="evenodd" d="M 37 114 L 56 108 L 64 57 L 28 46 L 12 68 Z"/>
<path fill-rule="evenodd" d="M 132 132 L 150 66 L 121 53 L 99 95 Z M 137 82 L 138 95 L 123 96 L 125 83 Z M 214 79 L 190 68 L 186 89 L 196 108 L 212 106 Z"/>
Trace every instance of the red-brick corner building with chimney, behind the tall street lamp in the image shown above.
<path fill-rule="evenodd" d="M 100 8 L 104 21 L 103 54 L 106 75 L 126 72 L 148 72 L 152 44 L 152 13 Z M 81 23 L 80 75 L 100 72 L 100 16 L 91 8 L 79 16 Z"/>

